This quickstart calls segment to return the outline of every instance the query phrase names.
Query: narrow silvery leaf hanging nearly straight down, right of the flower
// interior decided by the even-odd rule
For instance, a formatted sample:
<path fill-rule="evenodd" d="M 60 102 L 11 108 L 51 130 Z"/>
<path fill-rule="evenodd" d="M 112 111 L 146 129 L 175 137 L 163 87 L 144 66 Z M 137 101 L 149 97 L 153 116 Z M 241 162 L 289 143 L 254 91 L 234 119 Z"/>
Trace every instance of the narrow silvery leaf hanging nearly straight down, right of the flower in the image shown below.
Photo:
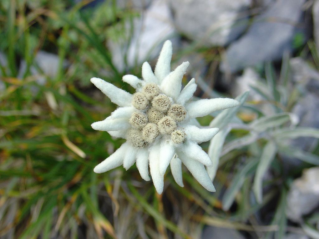
<path fill-rule="evenodd" d="M 268 141 L 268 143 L 263 148 L 263 152 L 257 166 L 253 185 L 253 191 L 256 195 L 258 203 L 262 202 L 263 197 L 263 176 L 268 170 L 271 161 L 274 159 L 276 152 L 277 148 L 275 143 L 273 141 Z"/>

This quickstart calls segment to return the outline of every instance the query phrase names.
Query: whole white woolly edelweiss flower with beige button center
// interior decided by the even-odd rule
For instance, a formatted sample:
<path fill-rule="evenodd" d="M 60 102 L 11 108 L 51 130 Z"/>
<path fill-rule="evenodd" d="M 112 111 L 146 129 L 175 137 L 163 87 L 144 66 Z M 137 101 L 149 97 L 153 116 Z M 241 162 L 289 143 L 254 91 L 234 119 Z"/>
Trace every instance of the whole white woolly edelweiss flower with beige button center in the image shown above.
<path fill-rule="evenodd" d="M 113 103 L 119 106 L 105 120 L 92 124 L 95 130 L 107 131 L 127 141 L 111 156 L 94 168 L 103 173 L 123 164 L 128 170 L 134 163 L 141 177 L 149 181 L 148 166 L 156 191 L 163 192 L 164 174 L 170 165 L 173 177 L 183 187 L 182 163 L 208 191 L 215 188 L 204 167 L 212 166 L 211 159 L 198 146 L 210 140 L 218 128 L 198 128 L 196 117 L 213 111 L 231 108 L 239 102 L 229 98 L 189 101 L 196 90 L 195 79 L 182 89 L 182 78 L 189 62 L 183 62 L 171 72 L 172 43 L 166 41 L 159 54 L 154 73 L 144 62 L 143 80 L 133 75 L 123 81 L 136 89 L 136 93 L 123 91 L 99 78 L 91 82 Z M 198 125 L 198 124 L 197 124 Z"/>

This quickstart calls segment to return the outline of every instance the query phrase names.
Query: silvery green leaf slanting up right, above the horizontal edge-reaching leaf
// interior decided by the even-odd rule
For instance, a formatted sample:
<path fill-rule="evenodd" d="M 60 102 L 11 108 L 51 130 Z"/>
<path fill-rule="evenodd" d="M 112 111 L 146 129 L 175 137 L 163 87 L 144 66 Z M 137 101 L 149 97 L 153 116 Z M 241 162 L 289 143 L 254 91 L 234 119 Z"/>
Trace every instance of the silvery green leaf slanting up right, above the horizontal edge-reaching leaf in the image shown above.
<path fill-rule="evenodd" d="M 291 121 L 291 117 L 292 116 L 289 113 L 279 113 L 254 120 L 249 124 L 249 126 L 257 132 L 263 132 L 268 128 L 278 127 Z"/>

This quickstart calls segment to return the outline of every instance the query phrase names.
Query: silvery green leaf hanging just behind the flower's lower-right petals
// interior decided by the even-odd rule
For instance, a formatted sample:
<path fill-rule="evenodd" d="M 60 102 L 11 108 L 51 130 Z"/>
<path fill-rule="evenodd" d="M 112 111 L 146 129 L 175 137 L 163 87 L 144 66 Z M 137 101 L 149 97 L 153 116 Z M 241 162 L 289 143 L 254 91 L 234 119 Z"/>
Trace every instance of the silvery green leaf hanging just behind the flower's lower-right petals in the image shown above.
<path fill-rule="evenodd" d="M 211 181 L 214 180 L 216 171 L 218 169 L 219 164 L 219 156 L 220 152 L 223 148 L 225 138 L 229 131 L 231 130 L 230 127 L 226 127 L 219 131 L 212 139 L 208 147 L 208 156 L 211 158 L 211 161 L 213 162 L 212 167 L 207 167 L 207 172 L 209 177 L 211 178 Z"/>

